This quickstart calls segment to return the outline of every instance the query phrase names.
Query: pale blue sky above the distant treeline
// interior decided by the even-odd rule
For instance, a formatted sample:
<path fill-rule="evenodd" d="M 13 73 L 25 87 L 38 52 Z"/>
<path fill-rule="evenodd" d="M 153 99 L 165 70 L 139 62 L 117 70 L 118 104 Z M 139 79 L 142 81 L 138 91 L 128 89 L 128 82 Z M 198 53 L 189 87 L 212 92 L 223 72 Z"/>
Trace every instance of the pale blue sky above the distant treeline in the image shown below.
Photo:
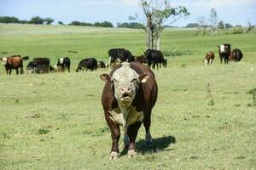
<path fill-rule="evenodd" d="M 0 16 L 15 16 L 20 20 L 30 20 L 39 15 L 50 17 L 55 23 L 64 24 L 73 20 L 84 22 L 110 21 L 131 22 L 129 16 L 137 14 L 137 22 L 145 23 L 140 0 L 0 0 Z M 171 0 L 172 7 L 185 6 L 189 18 L 181 19 L 172 26 L 186 26 L 195 23 L 200 16 L 209 18 L 211 8 L 215 8 L 218 20 L 233 26 L 247 26 L 248 21 L 256 25 L 256 0 Z M 166 23 L 172 20 L 166 20 Z M 208 22 L 208 20 L 207 20 Z"/>

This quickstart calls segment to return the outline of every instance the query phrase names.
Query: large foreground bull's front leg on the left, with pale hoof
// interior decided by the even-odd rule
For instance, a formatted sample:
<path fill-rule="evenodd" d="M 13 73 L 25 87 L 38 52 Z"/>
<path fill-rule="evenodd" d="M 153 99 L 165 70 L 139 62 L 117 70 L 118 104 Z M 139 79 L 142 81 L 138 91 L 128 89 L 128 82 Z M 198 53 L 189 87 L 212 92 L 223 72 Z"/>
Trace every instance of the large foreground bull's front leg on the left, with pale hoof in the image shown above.
<path fill-rule="evenodd" d="M 110 151 L 110 160 L 119 158 L 119 138 L 120 138 L 120 128 L 114 121 L 112 116 L 105 111 L 105 119 L 108 122 L 108 127 L 110 128 L 111 138 L 112 138 L 112 148 Z"/>

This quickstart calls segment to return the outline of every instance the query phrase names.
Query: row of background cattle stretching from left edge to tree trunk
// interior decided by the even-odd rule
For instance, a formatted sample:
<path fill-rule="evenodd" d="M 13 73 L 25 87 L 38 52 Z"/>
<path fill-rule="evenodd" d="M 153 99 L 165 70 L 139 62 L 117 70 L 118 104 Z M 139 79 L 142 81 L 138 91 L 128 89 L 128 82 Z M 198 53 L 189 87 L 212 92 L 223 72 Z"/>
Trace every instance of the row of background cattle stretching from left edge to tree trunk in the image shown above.
<path fill-rule="evenodd" d="M 97 61 L 95 58 L 82 59 L 76 69 L 78 71 L 96 71 L 97 68 L 113 67 L 124 61 L 132 62 L 137 61 L 139 63 L 147 64 L 149 67 L 157 69 L 163 65 L 166 67 L 167 59 L 164 59 L 163 54 L 159 50 L 148 49 L 141 56 L 133 56 L 131 52 L 125 48 L 112 48 L 108 50 L 109 63 L 106 64 L 103 61 Z M 23 60 L 29 59 L 28 56 L 21 57 L 20 55 L 13 55 L 10 57 L 0 58 L 3 60 L 3 65 L 7 75 L 11 75 L 13 69 L 16 70 L 16 74 L 23 74 Z M 49 73 L 49 72 L 63 72 L 67 69 L 70 72 L 71 61 L 68 57 L 57 59 L 57 64 L 52 66 L 49 58 L 33 58 L 26 66 L 28 73 Z"/>

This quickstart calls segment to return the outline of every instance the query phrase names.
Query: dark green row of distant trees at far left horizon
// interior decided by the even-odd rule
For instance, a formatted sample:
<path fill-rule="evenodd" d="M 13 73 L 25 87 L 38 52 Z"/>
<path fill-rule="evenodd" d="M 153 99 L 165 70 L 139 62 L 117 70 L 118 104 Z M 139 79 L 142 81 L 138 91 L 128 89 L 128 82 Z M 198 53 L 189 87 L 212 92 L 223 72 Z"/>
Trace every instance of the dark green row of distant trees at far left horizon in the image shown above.
<path fill-rule="evenodd" d="M 41 18 L 39 16 L 32 17 L 31 20 L 19 20 L 14 16 L 0 16 L 0 23 L 20 23 L 20 24 L 37 24 L 37 25 L 50 25 L 54 20 L 51 18 Z"/>

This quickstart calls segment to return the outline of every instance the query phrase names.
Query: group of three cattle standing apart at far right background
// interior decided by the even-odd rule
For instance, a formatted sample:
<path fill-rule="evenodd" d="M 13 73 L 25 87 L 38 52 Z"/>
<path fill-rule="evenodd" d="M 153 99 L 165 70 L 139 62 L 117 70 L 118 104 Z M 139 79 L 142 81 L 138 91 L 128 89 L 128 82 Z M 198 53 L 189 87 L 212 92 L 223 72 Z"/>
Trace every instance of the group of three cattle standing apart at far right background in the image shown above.
<path fill-rule="evenodd" d="M 233 51 L 231 52 L 230 43 L 223 43 L 221 45 L 218 45 L 218 55 L 219 55 L 221 64 L 223 63 L 223 60 L 224 60 L 224 64 L 228 64 L 231 61 L 239 62 L 243 57 L 243 54 L 241 53 L 240 49 L 236 48 L 236 49 L 233 49 Z M 205 64 L 211 65 L 213 59 L 214 59 L 214 53 L 212 51 L 209 51 L 206 54 Z"/>

